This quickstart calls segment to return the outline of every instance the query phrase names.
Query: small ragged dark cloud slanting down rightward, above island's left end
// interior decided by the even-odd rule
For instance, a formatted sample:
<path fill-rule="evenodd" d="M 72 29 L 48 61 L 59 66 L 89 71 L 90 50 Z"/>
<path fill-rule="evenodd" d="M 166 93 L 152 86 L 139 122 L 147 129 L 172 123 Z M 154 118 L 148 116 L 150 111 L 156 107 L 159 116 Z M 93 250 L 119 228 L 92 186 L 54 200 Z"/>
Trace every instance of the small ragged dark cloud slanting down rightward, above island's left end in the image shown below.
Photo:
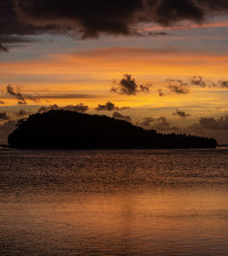
<path fill-rule="evenodd" d="M 17 103 L 19 105 L 26 105 L 27 103 L 26 100 L 35 101 L 35 102 L 37 101 L 36 97 L 29 94 L 23 94 L 18 86 L 14 88 L 12 85 L 7 85 L 6 93 L 8 95 L 13 96 L 17 100 Z"/>

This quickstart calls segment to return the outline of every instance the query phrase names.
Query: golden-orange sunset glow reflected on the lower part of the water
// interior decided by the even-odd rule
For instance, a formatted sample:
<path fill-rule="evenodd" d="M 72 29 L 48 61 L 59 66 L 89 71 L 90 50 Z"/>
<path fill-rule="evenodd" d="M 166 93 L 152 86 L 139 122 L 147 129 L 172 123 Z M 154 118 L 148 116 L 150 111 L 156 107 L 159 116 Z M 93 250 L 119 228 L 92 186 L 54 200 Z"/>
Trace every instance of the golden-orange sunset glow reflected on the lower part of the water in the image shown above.
<path fill-rule="evenodd" d="M 28 195 L 2 204 L 2 230 L 29 255 L 60 255 L 60 248 L 65 255 L 218 255 L 228 249 L 227 196 L 215 190 L 49 195 L 47 201 Z"/>

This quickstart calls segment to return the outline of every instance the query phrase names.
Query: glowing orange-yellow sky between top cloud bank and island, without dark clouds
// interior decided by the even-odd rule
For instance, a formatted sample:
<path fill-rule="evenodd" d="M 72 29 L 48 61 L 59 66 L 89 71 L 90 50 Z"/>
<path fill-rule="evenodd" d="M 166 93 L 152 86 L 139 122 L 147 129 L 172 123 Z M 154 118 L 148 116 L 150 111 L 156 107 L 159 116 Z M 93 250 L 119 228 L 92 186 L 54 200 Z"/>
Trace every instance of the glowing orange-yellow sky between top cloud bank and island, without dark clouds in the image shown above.
<path fill-rule="evenodd" d="M 228 51 L 225 31 L 227 20 L 181 27 L 147 26 L 143 31 L 166 31 L 168 35 L 141 37 L 99 37 L 77 40 L 70 37 L 40 36 L 39 41 L 23 48 L 12 45 L 0 59 L 0 111 L 40 106 L 84 103 L 95 113 L 98 104 L 113 102 L 130 109 L 122 112 L 133 122 L 144 117 L 166 117 L 186 127 L 201 117 L 219 118 L 228 111 L 228 89 L 205 88 L 191 84 L 193 76 L 207 83 L 228 80 Z M 130 74 L 137 84 L 152 84 L 150 92 L 119 95 L 111 92 L 113 80 Z M 175 94 L 167 89 L 167 80 L 182 80 L 189 93 Z M 24 106 L 5 93 L 11 84 L 20 91 L 40 98 L 27 100 Z M 164 91 L 160 97 L 158 90 Z M 189 113 L 188 118 L 174 116 L 175 110 Z M 100 112 L 111 115 L 111 112 Z"/>

